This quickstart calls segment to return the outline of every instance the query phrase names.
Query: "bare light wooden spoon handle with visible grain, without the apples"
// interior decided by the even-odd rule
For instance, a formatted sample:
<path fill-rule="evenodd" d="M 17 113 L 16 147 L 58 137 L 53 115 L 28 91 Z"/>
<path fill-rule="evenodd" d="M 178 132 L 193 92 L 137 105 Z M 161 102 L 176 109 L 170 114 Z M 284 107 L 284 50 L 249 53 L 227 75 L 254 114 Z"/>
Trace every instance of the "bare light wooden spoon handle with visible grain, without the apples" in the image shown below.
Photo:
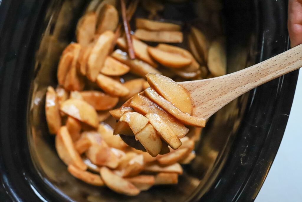
<path fill-rule="evenodd" d="M 190 93 L 193 115 L 209 118 L 247 91 L 300 67 L 302 45 L 229 75 L 179 84 Z"/>

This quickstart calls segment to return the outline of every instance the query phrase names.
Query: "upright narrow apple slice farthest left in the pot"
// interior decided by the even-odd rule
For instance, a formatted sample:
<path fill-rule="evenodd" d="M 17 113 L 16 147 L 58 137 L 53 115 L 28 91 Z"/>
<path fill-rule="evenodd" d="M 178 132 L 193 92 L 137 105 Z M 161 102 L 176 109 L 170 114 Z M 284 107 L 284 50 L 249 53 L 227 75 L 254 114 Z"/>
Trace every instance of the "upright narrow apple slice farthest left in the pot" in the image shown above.
<path fill-rule="evenodd" d="M 56 134 L 61 127 L 59 100 L 53 87 L 48 86 L 45 101 L 45 115 L 50 134 Z"/>

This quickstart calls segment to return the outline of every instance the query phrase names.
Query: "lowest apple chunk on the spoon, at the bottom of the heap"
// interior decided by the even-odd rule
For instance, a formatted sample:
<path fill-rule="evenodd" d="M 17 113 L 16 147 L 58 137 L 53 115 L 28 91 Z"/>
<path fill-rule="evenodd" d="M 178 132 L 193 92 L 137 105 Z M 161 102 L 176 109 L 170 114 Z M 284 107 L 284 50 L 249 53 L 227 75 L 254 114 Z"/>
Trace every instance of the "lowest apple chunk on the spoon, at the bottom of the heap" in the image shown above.
<path fill-rule="evenodd" d="M 162 140 L 155 128 L 149 123 L 135 134 L 135 139 L 140 141 L 147 152 L 153 157 L 156 157 L 162 149 Z"/>

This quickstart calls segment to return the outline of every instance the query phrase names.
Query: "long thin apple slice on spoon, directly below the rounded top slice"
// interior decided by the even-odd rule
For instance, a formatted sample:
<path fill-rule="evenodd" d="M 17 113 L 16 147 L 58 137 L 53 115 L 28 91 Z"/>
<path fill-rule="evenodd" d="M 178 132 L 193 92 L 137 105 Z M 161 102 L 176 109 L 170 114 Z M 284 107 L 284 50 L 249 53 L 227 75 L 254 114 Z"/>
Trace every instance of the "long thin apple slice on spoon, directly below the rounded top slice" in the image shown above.
<path fill-rule="evenodd" d="M 168 111 L 179 121 L 182 121 L 182 123 L 195 127 L 205 127 L 206 120 L 204 118 L 191 116 L 190 114 L 186 114 L 180 111 L 171 102 L 167 101 L 165 98 L 160 96 L 153 88 L 147 88 L 144 92 L 148 98 L 150 98 L 153 102 L 158 104 L 164 110 Z"/>

